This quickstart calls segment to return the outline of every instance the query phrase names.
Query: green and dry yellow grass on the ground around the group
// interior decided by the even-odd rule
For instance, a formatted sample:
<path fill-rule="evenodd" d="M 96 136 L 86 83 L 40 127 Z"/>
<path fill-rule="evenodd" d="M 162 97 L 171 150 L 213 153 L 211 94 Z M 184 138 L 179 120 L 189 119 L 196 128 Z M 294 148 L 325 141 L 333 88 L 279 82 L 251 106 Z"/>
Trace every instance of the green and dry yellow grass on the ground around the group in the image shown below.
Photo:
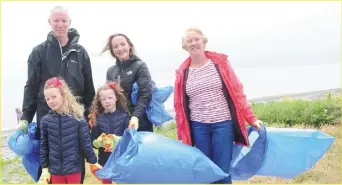
<path fill-rule="evenodd" d="M 233 183 L 339 184 L 341 182 L 341 126 L 339 124 L 341 109 L 339 98 L 329 95 L 324 99 L 313 101 L 286 98 L 279 102 L 253 104 L 252 107 L 255 114 L 265 122 L 266 126 L 318 128 L 336 139 L 312 169 L 294 179 L 254 176 L 248 181 L 234 181 Z M 176 139 L 174 123 L 155 128 L 155 131 L 166 137 Z M 0 164 L 3 175 L 1 183 L 34 183 L 22 167 L 20 158 L 0 160 Z M 90 173 L 88 165 L 86 169 L 85 183 L 100 183 Z"/>

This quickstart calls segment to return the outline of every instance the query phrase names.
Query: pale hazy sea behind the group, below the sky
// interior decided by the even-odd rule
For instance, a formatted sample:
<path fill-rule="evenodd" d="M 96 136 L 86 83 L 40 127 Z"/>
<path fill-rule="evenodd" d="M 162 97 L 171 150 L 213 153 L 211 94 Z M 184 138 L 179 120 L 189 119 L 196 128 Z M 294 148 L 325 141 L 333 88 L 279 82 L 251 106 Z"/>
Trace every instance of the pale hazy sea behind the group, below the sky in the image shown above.
<path fill-rule="evenodd" d="M 104 82 L 105 75 L 103 71 L 110 65 L 94 62 L 95 88 Z M 340 69 L 340 63 L 330 63 L 312 66 L 235 68 L 235 72 L 244 85 L 247 99 L 252 100 L 269 96 L 340 88 Z M 151 74 L 157 86 L 174 85 L 174 70 L 166 70 L 165 68 L 156 70 L 151 67 Z M 17 126 L 15 108 L 22 106 L 26 78 L 26 73 L 16 74 L 11 70 L 2 72 L 2 131 L 12 130 Z M 173 94 L 164 105 L 166 110 L 173 111 Z"/>

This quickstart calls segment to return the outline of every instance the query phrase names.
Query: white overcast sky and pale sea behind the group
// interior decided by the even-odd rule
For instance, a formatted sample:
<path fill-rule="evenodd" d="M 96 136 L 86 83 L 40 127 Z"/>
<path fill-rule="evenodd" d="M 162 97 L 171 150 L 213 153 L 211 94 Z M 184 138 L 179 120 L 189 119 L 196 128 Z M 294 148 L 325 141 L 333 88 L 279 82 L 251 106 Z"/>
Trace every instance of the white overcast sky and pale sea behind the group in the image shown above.
<path fill-rule="evenodd" d="M 27 58 L 45 41 L 48 16 L 64 6 L 91 57 L 98 87 L 114 64 L 99 53 L 125 33 L 159 86 L 173 85 L 188 54 L 181 37 L 198 27 L 207 50 L 229 56 L 247 97 L 340 87 L 340 2 L 1 2 L 2 121 L 21 107 Z M 303 85 L 304 84 L 304 85 Z M 166 106 L 172 108 L 170 97 Z M 13 110 L 13 111 L 12 111 Z M 13 117 L 13 118 L 12 118 Z"/>

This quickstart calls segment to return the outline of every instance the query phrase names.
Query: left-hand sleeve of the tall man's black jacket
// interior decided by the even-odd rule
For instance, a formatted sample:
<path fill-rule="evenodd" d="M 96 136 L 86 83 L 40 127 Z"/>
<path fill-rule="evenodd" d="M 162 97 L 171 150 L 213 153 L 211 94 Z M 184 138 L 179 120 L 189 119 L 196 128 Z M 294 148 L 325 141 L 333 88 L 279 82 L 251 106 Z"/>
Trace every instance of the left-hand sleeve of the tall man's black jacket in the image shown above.
<path fill-rule="evenodd" d="M 24 87 L 24 98 L 21 120 L 26 120 L 29 123 L 37 111 L 38 93 L 39 93 L 39 77 L 40 77 L 40 56 L 38 49 L 33 49 L 27 64 L 27 81 Z"/>

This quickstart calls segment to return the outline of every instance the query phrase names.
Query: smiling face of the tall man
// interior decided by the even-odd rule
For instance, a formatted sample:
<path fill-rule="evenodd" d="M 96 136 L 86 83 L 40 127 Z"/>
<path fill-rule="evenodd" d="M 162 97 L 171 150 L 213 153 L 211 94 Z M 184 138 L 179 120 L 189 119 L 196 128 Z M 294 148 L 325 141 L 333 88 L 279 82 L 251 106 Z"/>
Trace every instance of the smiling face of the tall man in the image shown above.
<path fill-rule="evenodd" d="M 64 38 L 68 36 L 70 18 L 66 11 L 57 10 L 51 13 L 49 24 L 57 38 Z"/>

